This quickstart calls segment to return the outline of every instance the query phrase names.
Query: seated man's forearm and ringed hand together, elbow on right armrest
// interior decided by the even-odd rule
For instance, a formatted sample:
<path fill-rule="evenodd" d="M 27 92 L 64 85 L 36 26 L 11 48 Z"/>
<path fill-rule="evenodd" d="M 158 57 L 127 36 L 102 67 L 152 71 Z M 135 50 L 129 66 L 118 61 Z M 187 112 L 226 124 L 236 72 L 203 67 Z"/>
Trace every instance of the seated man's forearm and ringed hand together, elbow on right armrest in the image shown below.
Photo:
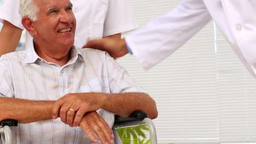
<path fill-rule="evenodd" d="M 69 111 L 73 109 L 76 113 Z M 149 118 L 158 116 L 155 101 L 146 93 L 73 93 L 56 101 L 53 118 L 61 117 L 63 123 L 77 127 L 84 113 L 104 109 L 127 117 L 134 111 L 148 113 Z"/>

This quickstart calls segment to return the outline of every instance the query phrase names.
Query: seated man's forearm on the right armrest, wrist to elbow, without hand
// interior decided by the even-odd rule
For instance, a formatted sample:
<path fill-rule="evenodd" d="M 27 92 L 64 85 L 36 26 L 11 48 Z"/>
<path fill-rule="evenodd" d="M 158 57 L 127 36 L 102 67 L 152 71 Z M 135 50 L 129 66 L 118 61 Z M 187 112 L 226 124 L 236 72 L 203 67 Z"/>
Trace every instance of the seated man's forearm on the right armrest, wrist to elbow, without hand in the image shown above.
<path fill-rule="evenodd" d="M 102 109 L 127 117 L 134 111 L 143 111 L 154 119 L 158 116 L 155 101 L 146 93 L 104 94 Z"/>

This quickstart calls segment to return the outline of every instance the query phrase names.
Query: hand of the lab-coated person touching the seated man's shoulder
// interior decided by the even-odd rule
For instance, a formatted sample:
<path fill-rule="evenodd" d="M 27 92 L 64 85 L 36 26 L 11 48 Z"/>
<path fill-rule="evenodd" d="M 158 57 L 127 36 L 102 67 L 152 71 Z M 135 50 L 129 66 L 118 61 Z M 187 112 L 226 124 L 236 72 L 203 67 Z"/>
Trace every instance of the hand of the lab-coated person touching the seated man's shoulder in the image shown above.
<path fill-rule="evenodd" d="M 97 39 L 90 40 L 83 48 L 92 48 L 107 51 L 114 59 L 123 57 L 129 51 L 127 50 L 125 39 Z"/>

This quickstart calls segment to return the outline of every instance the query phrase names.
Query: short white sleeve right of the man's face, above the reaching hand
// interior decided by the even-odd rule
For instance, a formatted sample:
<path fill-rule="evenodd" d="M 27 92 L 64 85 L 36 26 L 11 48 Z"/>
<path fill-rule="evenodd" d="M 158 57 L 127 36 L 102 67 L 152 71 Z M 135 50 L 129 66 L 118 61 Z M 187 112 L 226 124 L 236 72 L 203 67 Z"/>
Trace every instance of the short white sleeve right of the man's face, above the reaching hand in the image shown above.
<path fill-rule="evenodd" d="M 109 0 L 103 37 L 117 33 L 127 33 L 138 28 L 131 5 L 127 0 Z"/>

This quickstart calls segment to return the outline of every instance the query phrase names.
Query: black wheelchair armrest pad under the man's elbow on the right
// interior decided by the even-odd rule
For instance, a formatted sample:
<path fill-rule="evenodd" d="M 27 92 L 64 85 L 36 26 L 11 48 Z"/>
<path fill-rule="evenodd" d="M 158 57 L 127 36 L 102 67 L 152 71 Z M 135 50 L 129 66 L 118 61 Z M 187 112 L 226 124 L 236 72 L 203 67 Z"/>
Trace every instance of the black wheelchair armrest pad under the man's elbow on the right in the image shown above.
<path fill-rule="evenodd" d="M 142 121 L 144 118 L 147 118 L 148 115 L 142 111 L 135 111 L 129 117 L 121 117 L 115 115 L 115 124 L 124 123 L 124 122 L 133 122 L 133 121 Z"/>

